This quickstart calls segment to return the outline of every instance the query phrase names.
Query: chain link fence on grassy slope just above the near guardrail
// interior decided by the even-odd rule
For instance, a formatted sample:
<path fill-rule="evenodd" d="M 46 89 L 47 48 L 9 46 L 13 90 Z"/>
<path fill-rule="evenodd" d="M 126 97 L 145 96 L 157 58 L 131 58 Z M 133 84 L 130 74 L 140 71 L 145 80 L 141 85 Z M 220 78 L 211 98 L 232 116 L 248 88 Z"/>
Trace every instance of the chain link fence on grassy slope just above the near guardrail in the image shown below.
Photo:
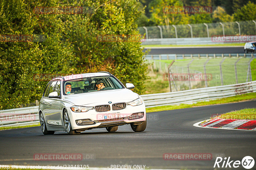
<path fill-rule="evenodd" d="M 170 91 L 181 91 L 252 81 L 251 59 L 173 60 L 163 78 Z"/>

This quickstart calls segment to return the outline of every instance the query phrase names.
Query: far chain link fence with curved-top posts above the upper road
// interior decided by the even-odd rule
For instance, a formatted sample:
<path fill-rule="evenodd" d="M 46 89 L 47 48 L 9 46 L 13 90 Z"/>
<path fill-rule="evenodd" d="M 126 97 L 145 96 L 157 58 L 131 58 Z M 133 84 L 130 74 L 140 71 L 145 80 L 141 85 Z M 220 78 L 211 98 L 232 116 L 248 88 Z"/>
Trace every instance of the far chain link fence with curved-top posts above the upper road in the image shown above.
<path fill-rule="evenodd" d="M 141 35 L 146 34 L 146 39 L 256 35 L 256 22 L 252 20 L 227 23 L 163 25 L 139 27 L 138 29 Z"/>

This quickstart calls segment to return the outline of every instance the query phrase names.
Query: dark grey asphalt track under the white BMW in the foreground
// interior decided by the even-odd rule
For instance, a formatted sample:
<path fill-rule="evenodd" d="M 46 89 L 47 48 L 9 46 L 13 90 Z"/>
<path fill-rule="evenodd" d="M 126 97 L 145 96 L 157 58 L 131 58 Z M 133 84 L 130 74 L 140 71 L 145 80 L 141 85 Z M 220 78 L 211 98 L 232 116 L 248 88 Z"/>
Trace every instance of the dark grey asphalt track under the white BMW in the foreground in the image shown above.
<path fill-rule="evenodd" d="M 66 132 L 43 135 L 40 127 L 4 130 L 0 131 L 0 164 L 89 167 L 126 164 L 145 165 L 145 168 L 214 169 L 215 160 L 164 160 L 164 153 L 211 153 L 213 157 L 219 154 L 240 161 L 244 156 L 252 156 L 256 160 L 256 131 L 193 126 L 211 114 L 255 106 L 256 101 L 248 101 L 147 113 L 146 130 L 136 133 L 130 125 L 119 126 L 116 132 L 93 129 L 73 136 Z M 81 153 L 84 156 L 80 161 L 34 160 L 34 154 L 40 153 Z"/>

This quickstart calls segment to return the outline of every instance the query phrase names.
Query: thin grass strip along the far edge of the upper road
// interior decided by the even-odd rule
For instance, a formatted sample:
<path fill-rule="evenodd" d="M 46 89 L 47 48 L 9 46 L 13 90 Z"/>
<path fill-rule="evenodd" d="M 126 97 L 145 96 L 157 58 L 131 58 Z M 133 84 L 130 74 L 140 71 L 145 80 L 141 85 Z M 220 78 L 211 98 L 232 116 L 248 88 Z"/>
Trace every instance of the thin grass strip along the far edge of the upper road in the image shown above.
<path fill-rule="evenodd" d="M 141 45 L 141 47 L 179 47 L 179 46 L 244 46 L 244 43 L 232 44 L 203 44 L 203 45 Z"/>

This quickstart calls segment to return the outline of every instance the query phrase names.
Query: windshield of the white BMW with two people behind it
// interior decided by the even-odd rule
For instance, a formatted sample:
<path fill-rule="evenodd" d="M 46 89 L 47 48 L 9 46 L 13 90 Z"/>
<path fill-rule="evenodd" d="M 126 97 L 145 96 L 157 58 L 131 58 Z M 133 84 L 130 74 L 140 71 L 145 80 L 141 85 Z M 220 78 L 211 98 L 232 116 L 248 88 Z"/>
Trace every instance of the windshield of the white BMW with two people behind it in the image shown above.
<path fill-rule="evenodd" d="M 64 95 L 88 93 L 94 91 L 123 89 L 124 87 L 111 76 L 86 77 L 64 82 Z"/>

